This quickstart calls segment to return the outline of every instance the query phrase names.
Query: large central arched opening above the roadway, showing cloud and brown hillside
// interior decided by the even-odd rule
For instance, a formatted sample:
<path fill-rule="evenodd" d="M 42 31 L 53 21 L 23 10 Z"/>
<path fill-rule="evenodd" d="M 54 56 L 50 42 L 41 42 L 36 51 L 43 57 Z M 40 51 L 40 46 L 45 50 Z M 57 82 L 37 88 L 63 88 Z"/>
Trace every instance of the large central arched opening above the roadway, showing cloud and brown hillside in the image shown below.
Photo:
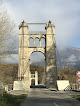
<path fill-rule="evenodd" d="M 30 55 L 30 71 L 38 73 L 38 84 L 45 85 L 45 56 L 41 52 L 33 52 Z"/>

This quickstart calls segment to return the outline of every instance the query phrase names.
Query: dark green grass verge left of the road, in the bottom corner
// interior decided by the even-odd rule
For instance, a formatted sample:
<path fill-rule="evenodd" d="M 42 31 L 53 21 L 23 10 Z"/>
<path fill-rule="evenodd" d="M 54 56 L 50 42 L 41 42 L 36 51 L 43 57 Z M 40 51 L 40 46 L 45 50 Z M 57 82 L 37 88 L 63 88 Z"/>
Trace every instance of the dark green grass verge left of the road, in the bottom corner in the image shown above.
<path fill-rule="evenodd" d="M 0 96 L 0 106 L 19 106 L 26 96 L 25 94 L 18 96 L 3 94 Z"/>

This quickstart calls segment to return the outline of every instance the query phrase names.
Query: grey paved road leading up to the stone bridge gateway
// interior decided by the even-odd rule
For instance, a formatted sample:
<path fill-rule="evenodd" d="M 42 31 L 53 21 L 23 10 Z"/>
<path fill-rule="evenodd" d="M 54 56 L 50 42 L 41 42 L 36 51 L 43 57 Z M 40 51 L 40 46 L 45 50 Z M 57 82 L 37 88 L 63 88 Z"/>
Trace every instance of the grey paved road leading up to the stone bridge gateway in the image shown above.
<path fill-rule="evenodd" d="M 64 91 L 31 88 L 28 97 L 20 106 L 80 106 L 80 102 Z"/>

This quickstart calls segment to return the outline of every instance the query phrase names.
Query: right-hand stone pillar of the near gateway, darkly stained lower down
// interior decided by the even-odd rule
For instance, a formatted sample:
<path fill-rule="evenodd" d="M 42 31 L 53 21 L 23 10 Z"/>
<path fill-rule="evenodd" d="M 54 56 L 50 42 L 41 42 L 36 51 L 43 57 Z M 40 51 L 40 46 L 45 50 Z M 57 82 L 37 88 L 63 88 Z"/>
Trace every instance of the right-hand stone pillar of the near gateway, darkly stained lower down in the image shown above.
<path fill-rule="evenodd" d="M 57 65 L 56 65 L 56 44 L 54 24 L 49 21 L 46 24 L 46 87 L 56 87 Z"/>

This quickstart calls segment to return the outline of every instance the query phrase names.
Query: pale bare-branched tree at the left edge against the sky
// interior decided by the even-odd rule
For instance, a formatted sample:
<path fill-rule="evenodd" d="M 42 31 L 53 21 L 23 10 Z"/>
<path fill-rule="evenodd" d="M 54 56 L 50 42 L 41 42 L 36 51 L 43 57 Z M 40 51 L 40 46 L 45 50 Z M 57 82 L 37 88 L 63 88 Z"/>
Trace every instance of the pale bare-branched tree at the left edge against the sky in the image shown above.
<path fill-rule="evenodd" d="M 0 62 L 3 58 L 10 56 L 10 53 L 16 47 L 15 27 L 14 22 L 7 14 L 2 0 L 0 0 Z"/>

